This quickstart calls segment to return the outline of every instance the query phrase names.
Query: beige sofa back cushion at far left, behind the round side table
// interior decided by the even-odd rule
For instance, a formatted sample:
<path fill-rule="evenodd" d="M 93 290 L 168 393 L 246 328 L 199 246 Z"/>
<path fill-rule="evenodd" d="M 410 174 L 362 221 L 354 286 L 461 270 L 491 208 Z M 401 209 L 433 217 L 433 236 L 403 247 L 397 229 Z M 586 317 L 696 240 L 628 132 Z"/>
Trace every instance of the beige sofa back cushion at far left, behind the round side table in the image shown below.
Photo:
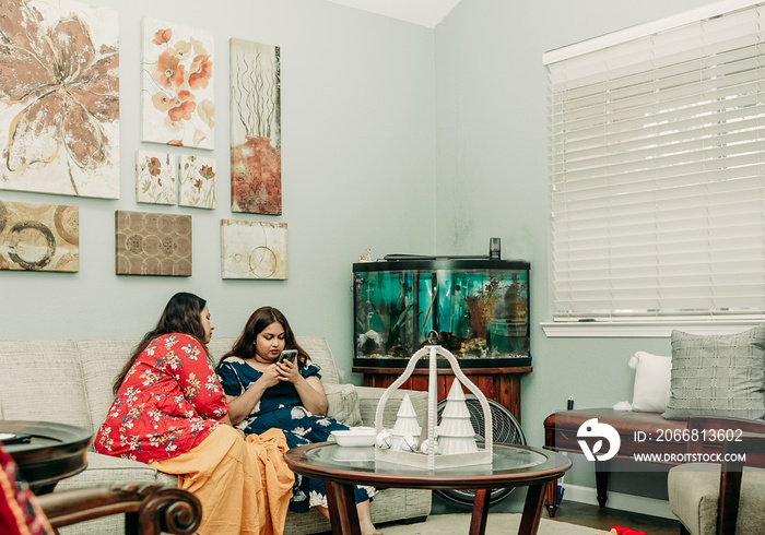
<path fill-rule="evenodd" d="M 93 429 L 71 340 L 0 340 L 0 415 Z"/>

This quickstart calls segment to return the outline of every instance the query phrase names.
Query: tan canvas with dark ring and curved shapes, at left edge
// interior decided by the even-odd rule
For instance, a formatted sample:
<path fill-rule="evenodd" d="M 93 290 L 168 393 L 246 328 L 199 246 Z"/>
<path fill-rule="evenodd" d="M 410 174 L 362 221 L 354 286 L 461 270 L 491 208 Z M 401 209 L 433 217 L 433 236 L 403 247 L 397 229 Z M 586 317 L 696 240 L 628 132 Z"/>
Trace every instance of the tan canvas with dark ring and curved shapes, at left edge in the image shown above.
<path fill-rule="evenodd" d="M 80 209 L 0 201 L 0 270 L 80 271 Z"/>

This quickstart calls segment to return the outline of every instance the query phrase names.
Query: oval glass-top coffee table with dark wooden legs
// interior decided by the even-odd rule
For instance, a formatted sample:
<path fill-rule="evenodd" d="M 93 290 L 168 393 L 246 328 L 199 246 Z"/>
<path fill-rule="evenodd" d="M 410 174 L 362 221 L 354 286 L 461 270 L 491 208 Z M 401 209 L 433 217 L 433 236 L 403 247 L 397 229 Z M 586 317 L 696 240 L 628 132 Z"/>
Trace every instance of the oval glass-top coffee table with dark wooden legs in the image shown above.
<path fill-rule="evenodd" d="M 354 485 L 378 488 L 474 489 L 470 535 L 486 531 L 491 490 L 529 487 L 519 534 L 537 533 L 544 489 L 570 468 L 560 453 L 526 445 L 494 444 L 492 464 L 429 471 L 375 462 L 375 449 L 344 448 L 333 442 L 301 445 L 284 453 L 293 472 L 321 479 L 327 487 L 332 533 L 360 535 Z"/>

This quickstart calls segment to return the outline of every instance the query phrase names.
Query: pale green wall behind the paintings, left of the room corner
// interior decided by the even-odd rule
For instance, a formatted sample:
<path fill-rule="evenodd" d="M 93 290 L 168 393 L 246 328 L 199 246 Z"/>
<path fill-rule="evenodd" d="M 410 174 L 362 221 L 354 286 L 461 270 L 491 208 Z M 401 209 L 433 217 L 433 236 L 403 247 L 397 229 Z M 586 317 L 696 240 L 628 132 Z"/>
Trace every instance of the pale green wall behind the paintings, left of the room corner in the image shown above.
<path fill-rule="evenodd" d="M 327 336 L 352 379 L 351 263 L 366 247 L 434 249 L 433 31 L 317 0 L 93 3 L 120 15 L 121 199 L 0 190 L 3 201 L 80 206 L 79 273 L 0 272 L 0 337 L 140 337 L 188 290 L 208 299 L 220 335 L 238 334 L 256 307 L 282 309 L 298 334 Z M 139 142 L 143 16 L 214 33 L 214 211 L 136 203 L 136 150 L 164 147 Z M 229 210 L 231 37 L 281 46 L 282 216 Z M 116 276 L 115 210 L 192 215 L 193 276 Z M 287 223 L 290 280 L 221 280 L 222 218 Z"/>

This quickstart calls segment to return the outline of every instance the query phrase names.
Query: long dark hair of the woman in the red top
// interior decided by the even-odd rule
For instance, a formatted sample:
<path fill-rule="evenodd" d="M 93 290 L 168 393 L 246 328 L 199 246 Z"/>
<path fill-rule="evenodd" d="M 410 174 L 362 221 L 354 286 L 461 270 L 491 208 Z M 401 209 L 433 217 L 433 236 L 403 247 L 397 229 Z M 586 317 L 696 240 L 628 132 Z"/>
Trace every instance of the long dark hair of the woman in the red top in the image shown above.
<path fill-rule="evenodd" d="M 186 292 L 179 292 L 170 297 L 170 300 L 167 301 L 165 306 L 165 310 L 162 311 L 156 326 L 143 336 L 143 340 L 136 346 L 125 368 L 122 368 L 122 371 L 117 376 L 113 388 L 115 395 L 119 392 L 119 388 L 122 385 L 122 381 L 125 381 L 125 376 L 128 374 L 128 371 L 132 368 L 138 356 L 143 353 L 143 349 L 157 336 L 168 333 L 188 334 L 197 338 L 207 353 L 207 346 L 204 345 L 205 332 L 201 321 L 202 310 L 204 310 L 207 304 L 208 301 L 201 297 Z"/>

